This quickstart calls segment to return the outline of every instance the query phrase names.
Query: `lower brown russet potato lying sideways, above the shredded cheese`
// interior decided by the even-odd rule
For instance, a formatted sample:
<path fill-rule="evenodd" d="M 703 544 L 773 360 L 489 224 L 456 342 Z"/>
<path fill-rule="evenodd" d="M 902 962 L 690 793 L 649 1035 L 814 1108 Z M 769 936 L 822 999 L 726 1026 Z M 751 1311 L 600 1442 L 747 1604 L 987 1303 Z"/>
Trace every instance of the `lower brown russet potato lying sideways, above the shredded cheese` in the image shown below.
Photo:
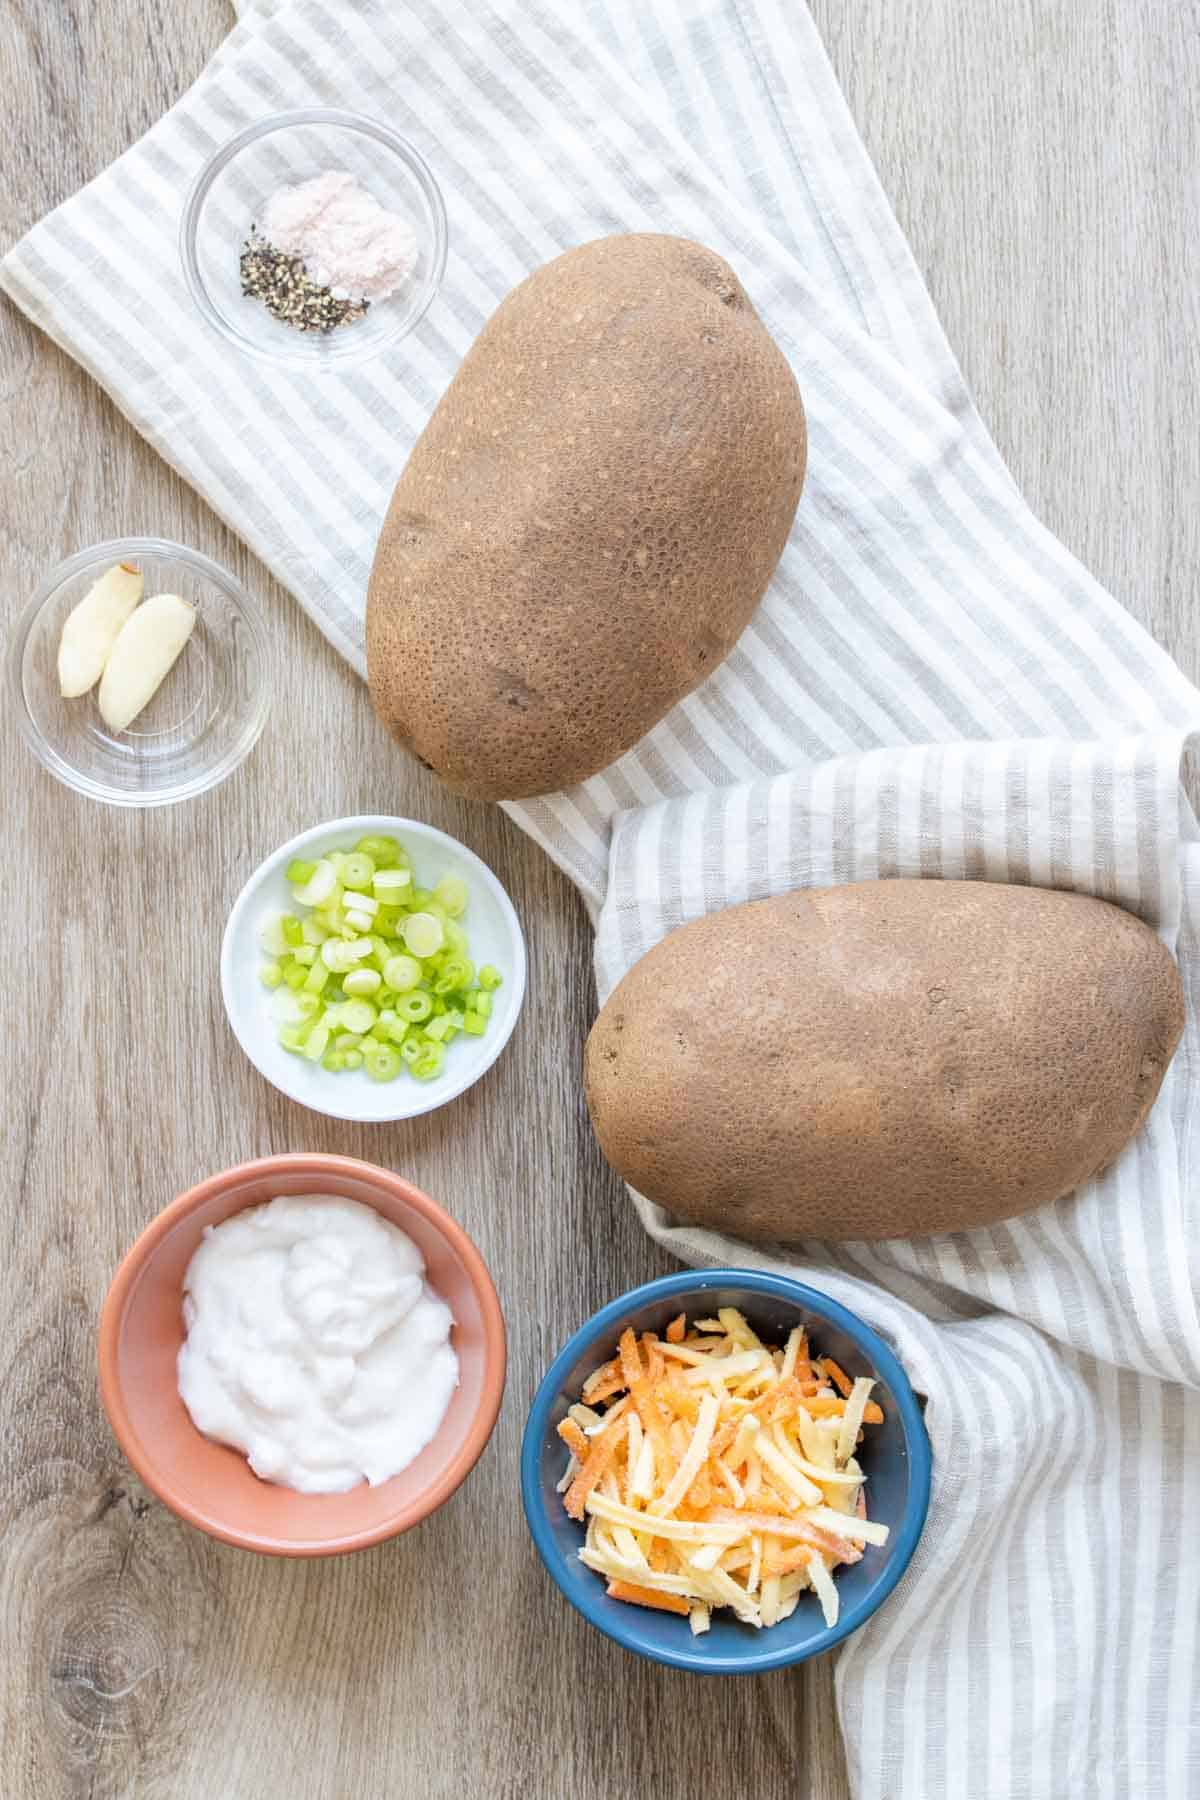
<path fill-rule="evenodd" d="M 648 1199 L 734 1237 L 919 1237 L 1105 1168 L 1184 1028 L 1133 914 L 995 882 L 790 893 L 673 931 L 587 1044 L 592 1125 Z"/>

